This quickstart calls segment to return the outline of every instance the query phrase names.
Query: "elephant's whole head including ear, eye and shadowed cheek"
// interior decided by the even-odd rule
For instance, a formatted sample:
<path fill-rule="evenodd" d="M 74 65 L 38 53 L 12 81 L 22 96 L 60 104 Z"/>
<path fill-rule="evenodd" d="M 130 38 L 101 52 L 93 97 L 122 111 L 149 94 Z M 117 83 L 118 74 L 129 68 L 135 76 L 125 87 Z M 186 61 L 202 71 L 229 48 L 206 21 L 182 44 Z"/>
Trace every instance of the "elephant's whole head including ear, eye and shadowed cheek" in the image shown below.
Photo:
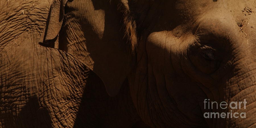
<path fill-rule="evenodd" d="M 55 0 L 41 43 L 88 65 L 111 96 L 127 78 L 134 106 L 151 127 L 254 127 L 255 6 L 253 0 Z M 244 99 L 246 108 L 214 106 Z M 246 118 L 207 118 L 208 112 L 246 112 Z"/>

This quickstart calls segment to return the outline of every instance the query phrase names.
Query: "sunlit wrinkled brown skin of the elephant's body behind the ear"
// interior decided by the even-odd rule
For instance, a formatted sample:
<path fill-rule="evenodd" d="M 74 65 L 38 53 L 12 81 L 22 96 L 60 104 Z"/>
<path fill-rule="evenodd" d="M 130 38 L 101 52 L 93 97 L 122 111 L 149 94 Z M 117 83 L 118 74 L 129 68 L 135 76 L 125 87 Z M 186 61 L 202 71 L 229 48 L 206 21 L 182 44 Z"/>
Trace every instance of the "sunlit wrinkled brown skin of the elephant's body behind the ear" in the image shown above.
<path fill-rule="evenodd" d="M 50 5 L 1 1 L 0 127 L 74 125 L 92 72 L 71 55 L 38 44 Z"/>

